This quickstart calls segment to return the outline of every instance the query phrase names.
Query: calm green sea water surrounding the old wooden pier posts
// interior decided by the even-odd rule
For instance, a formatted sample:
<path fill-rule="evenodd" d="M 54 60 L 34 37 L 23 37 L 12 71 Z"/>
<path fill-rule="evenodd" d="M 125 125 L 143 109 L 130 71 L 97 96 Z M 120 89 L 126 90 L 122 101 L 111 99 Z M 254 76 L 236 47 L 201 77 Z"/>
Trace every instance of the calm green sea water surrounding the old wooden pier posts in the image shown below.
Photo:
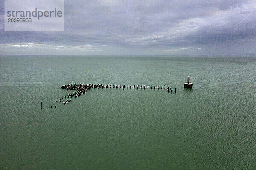
<path fill-rule="evenodd" d="M 256 169 L 256 56 L 0 56 L 0 94 L 2 170 Z"/>

